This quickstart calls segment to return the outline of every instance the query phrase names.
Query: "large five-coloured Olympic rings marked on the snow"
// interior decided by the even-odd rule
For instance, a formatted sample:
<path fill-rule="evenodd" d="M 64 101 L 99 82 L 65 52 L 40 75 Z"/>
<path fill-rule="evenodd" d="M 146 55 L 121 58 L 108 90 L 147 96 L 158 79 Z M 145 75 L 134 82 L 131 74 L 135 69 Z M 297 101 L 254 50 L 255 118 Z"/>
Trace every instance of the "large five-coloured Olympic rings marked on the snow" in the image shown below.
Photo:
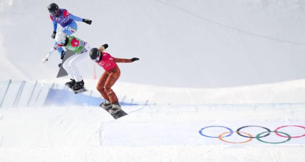
<path fill-rule="evenodd" d="M 250 142 L 253 138 L 256 138 L 258 141 L 263 142 L 263 143 L 279 144 L 279 143 L 288 142 L 288 141 L 291 140 L 291 138 L 300 138 L 300 137 L 304 137 L 304 136 L 305 136 L 305 134 L 304 134 L 304 135 L 300 135 L 300 136 L 291 137 L 291 136 L 290 136 L 289 134 L 287 134 L 287 133 L 279 132 L 279 131 L 278 131 L 279 129 L 281 129 L 281 128 L 283 128 L 283 127 L 290 127 L 290 126 L 301 127 L 301 128 L 303 128 L 303 129 L 305 129 L 305 126 L 300 126 L 300 125 L 284 125 L 284 126 L 277 127 L 277 128 L 275 129 L 275 131 L 270 131 L 270 129 L 268 129 L 268 128 L 266 128 L 266 127 L 263 127 L 263 126 L 258 126 L 258 125 L 247 125 L 247 126 L 239 127 L 236 131 L 233 131 L 231 128 L 226 127 L 226 126 L 211 125 L 211 126 L 206 126 L 206 127 L 201 128 L 201 129 L 199 130 L 199 134 L 200 134 L 201 136 L 208 137 L 208 138 L 218 138 L 219 140 L 221 140 L 221 141 L 223 141 L 223 142 L 226 142 L 226 143 L 233 143 L 233 144 L 247 143 L 247 142 Z M 217 136 L 217 137 L 215 137 L 215 136 L 207 136 L 207 135 L 204 135 L 204 134 L 202 133 L 202 131 L 203 131 L 204 129 L 206 129 L 206 128 L 209 128 L 209 127 L 223 127 L 223 128 L 228 129 L 229 132 L 221 133 L 221 134 L 220 134 L 219 136 Z M 251 134 L 249 134 L 249 133 L 241 132 L 241 131 L 240 131 L 242 128 L 245 128 L 245 127 L 261 127 L 261 128 L 263 128 L 263 129 L 266 129 L 266 131 L 265 131 L 265 132 L 262 132 L 262 133 L 259 133 L 259 134 L 257 134 L 256 136 L 253 137 L 253 136 L 252 136 Z M 246 138 L 249 138 L 249 139 L 246 140 L 246 141 L 243 141 L 243 142 L 231 142 L 231 141 L 226 141 L 226 140 L 224 140 L 225 137 L 229 137 L 229 136 L 233 135 L 234 132 L 237 133 L 237 134 L 238 134 L 239 136 L 241 136 L 241 137 L 246 137 Z M 275 133 L 277 136 L 287 138 L 287 140 L 282 141 L 282 142 L 266 142 L 266 141 L 261 140 L 261 138 L 269 136 L 272 132 Z M 226 134 L 228 134 L 228 135 L 226 135 Z M 242 134 L 244 134 L 244 135 L 242 135 Z M 265 134 L 265 135 L 264 135 L 264 134 Z M 281 135 L 281 134 L 282 134 L 282 135 Z M 226 136 L 225 136 L 225 135 L 226 135 Z M 247 136 L 245 136 L 245 135 L 247 135 Z"/>

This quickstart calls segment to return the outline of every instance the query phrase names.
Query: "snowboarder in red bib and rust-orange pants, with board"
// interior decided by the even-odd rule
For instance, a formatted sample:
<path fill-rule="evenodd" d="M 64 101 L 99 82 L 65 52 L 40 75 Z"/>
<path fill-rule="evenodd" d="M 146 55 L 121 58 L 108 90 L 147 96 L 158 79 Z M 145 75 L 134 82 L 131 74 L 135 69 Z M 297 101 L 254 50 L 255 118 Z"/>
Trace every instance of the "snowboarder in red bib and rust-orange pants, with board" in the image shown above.
<path fill-rule="evenodd" d="M 102 74 L 101 78 L 98 81 L 97 89 L 102 94 L 103 98 L 106 100 L 102 103 L 102 108 L 107 109 L 112 107 L 109 110 L 110 114 L 115 114 L 121 110 L 121 107 L 118 103 L 118 99 L 114 91 L 111 89 L 113 84 L 117 81 L 120 76 L 120 70 L 116 62 L 133 62 L 139 60 L 139 58 L 115 58 L 112 57 L 109 53 L 104 52 L 108 47 L 107 44 L 104 44 L 100 48 L 92 48 L 89 52 L 90 58 L 97 62 L 105 72 Z"/>

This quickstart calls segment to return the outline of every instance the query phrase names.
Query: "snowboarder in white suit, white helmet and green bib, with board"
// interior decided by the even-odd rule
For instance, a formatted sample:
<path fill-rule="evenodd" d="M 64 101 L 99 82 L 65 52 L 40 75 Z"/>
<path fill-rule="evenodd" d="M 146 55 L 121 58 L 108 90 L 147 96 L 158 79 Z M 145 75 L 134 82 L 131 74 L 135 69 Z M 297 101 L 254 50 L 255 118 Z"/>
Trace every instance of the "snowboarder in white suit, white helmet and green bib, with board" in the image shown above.
<path fill-rule="evenodd" d="M 65 47 L 66 49 L 73 51 L 75 54 L 67 58 L 63 63 L 63 68 L 72 78 L 70 79 L 70 82 L 66 83 L 66 85 L 68 85 L 74 91 L 82 89 L 84 86 L 84 81 L 78 69 L 76 68 L 76 64 L 90 58 L 90 46 L 87 42 L 84 42 L 74 36 L 67 36 L 63 32 L 59 32 L 56 34 L 55 41 L 57 42 L 57 45 L 55 45 L 49 51 L 49 53 L 43 58 L 42 62 L 45 63 L 48 60 L 50 54 L 56 51 L 59 47 Z"/>

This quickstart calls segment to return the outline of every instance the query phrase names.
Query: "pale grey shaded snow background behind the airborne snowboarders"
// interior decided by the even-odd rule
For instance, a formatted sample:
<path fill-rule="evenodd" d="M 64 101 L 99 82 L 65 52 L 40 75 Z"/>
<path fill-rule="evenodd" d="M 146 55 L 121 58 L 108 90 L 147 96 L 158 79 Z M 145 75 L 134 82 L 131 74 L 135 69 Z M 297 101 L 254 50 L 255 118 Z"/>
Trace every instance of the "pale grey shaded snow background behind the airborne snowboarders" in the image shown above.
<path fill-rule="evenodd" d="M 53 1 L 0 2 L 0 80 L 53 79 L 58 54 L 46 9 Z M 93 20 L 78 22 L 76 37 L 93 47 L 109 44 L 120 80 L 175 87 L 230 87 L 305 77 L 303 0 L 60 1 L 60 8 Z M 57 31 L 62 27 L 58 25 Z M 10 62 L 12 65 L 10 65 Z M 10 67 L 10 68 L 9 68 Z M 93 78 L 94 62 L 79 65 Z M 102 68 L 97 68 L 101 75 Z M 15 75 L 12 75 L 15 74 Z M 22 74 L 22 75 L 20 75 Z"/>

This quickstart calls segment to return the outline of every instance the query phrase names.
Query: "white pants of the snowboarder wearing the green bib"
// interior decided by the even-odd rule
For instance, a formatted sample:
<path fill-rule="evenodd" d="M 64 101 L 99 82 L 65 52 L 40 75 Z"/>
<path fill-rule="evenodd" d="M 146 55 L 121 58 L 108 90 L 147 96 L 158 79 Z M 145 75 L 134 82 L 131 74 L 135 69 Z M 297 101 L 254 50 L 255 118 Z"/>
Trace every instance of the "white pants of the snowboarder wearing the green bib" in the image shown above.
<path fill-rule="evenodd" d="M 88 44 L 86 44 L 85 48 L 87 52 L 74 54 L 68 59 L 66 59 L 63 64 L 63 68 L 66 70 L 66 72 L 70 75 L 72 79 L 75 79 L 76 82 L 80 82 L 83 80 L 78 69 L 76 68 L 76 65 L 87 59 L 90 59 L 89 51 L 91 48 Z"/>

